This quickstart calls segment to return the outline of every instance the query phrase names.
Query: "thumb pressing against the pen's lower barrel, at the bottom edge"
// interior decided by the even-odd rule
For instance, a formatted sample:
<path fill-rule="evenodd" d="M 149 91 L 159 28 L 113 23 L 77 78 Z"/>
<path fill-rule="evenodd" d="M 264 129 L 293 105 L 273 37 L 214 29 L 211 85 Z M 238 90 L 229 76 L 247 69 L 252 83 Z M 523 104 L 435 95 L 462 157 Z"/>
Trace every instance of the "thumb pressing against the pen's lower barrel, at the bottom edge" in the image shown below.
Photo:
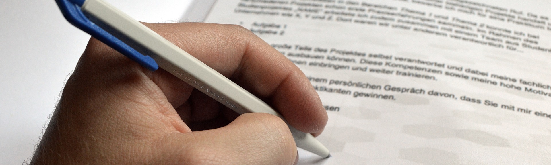
<path fill-rule="evenodd" d="M 294 164 L 287 124 L 267 113 L 246 113 L 226 127 L 174 133 L 160 141 L 163 164 Z"/>

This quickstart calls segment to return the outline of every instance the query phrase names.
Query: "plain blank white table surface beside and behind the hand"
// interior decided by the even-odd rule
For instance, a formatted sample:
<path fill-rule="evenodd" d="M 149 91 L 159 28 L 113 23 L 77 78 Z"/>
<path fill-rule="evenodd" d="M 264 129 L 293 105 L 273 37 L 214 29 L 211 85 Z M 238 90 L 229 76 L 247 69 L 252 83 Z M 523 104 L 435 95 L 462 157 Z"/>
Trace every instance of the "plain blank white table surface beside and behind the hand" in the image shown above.
<path fill-rule="evenodd" d="M 106 1 L 149 23 L 180 20 L 192 2 Z M 0 1 L 0 164 L 21 164 L 35 150 L 89 37 L 53 0 Z"/>

